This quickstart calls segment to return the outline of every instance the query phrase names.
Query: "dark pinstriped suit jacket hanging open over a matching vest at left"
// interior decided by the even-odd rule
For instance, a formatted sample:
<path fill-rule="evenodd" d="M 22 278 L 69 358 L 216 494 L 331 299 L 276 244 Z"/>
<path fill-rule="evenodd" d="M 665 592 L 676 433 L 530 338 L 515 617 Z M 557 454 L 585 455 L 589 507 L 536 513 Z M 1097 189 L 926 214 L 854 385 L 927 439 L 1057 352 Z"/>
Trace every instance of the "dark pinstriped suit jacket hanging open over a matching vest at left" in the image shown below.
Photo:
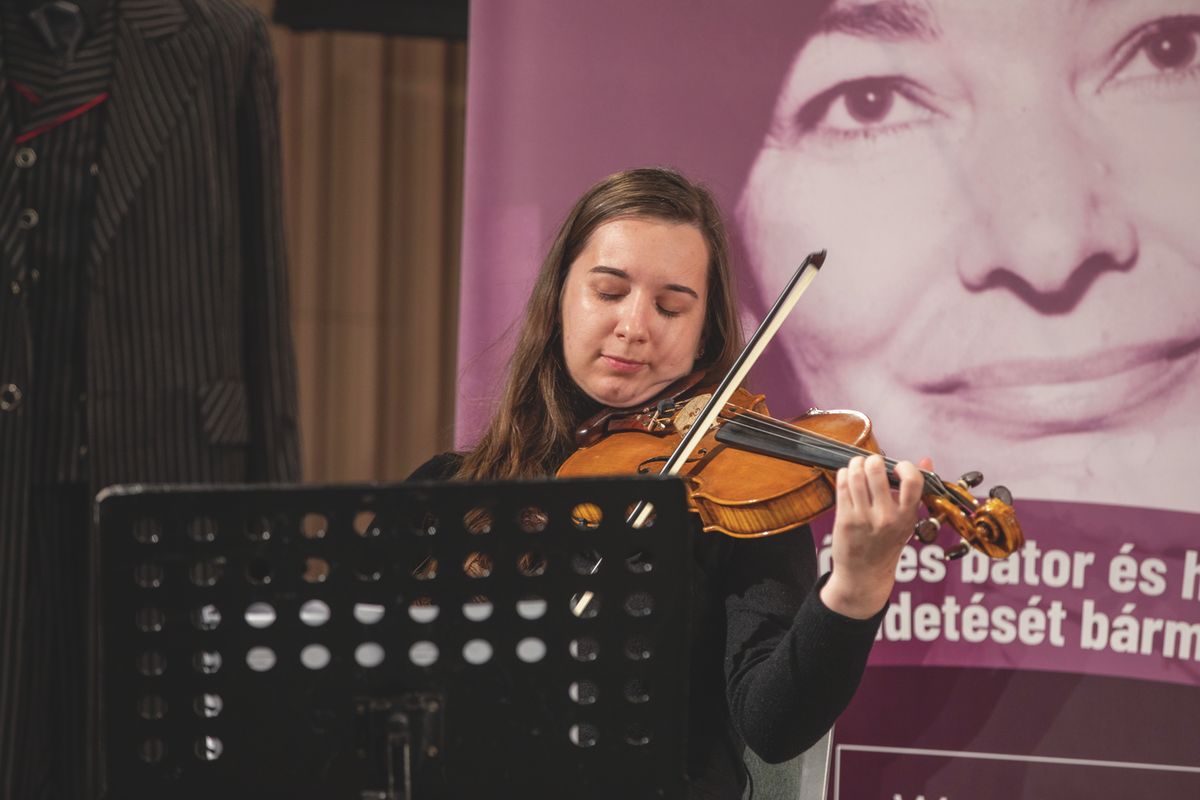
<path fill-rule="evenodd" d="M 119 0 L 114 53 L 83 265 L 92 488 L 298 480 L 265 24 L 235 0 Z M 8 290 L 24 259 L 8 98 L 0 85 L 0 387 L 37 366 Z M 37 668 L 19 651 L 34 413 L 0 411 L 0 799 Z"/>

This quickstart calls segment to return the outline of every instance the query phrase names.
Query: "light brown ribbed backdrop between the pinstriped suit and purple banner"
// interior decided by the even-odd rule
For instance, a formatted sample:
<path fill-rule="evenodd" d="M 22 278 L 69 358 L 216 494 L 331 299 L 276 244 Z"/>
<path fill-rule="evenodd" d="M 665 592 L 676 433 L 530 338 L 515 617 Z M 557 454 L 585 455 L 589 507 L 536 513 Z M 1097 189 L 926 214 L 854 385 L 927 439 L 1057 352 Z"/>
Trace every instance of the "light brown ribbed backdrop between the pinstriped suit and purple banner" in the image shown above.
<path fill-rule="evenodd" d="M 402 480 L 454 440 L 467 46 L 272 40 L 305 480 Z"/>

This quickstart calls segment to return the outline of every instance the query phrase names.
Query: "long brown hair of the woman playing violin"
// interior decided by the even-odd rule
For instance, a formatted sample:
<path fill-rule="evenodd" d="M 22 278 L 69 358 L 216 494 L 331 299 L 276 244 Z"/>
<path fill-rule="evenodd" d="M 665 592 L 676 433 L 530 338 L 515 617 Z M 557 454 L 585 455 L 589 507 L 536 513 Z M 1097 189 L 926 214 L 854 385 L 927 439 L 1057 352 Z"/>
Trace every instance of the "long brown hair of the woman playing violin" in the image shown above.
<path fill-rule="evenodd" d="M 673 169 L 643 168 L 604 179 L 576 201 L 546 253 L 509 361 L 499 408 L 460 479 L 551 475 L 575 450 L 575 428 L 592 411 L 566 372 L 562 297 L 566 273 L 592 234 L 606 222 L 641 217 L 695 225 L 708 245 L 708 305 L 697 369 L 724 374 L 742 350 L 730 247 L 716 201 Z"/>

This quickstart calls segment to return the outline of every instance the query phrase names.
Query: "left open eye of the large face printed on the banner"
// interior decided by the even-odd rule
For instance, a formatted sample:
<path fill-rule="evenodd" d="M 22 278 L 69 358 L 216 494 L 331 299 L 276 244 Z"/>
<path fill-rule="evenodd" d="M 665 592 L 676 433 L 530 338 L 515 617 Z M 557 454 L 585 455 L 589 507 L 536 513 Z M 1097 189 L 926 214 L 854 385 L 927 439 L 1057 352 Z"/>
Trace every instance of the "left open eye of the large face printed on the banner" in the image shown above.
<path fill-rule="evenodd" d="M 895 76 L 846 80 L 804 103 L 796 114 L 797 132 L 835 140 L 899 133 L 941 115 L 922 95 L 911 80 Z"/>

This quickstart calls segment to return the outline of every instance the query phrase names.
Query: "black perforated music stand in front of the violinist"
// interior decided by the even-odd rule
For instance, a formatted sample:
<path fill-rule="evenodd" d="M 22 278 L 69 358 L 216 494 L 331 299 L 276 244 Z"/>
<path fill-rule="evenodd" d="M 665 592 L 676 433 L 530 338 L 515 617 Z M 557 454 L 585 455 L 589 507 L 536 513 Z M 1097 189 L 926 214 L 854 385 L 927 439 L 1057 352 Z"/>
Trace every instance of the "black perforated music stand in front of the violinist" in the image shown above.
<path fill-rule="evenodd" d="M 98 517 L 108 798 L 685 794 L 677 480 L 130 486 Z"/>

